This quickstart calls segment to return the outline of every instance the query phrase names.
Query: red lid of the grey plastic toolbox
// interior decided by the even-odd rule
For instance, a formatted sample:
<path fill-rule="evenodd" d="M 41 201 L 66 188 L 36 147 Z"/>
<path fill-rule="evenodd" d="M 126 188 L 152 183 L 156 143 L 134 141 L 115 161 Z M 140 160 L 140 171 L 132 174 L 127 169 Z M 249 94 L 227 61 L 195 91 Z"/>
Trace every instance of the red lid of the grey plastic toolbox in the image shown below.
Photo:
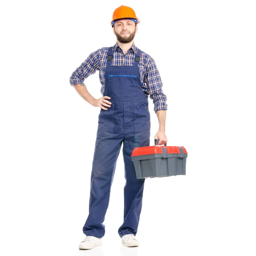
<path fill-rule="evenodd" d="M 134 148 L 131 156 L 143 156 L 148 154 L 163 154 L 162 148 L 166 148 L 167 154 L 180 154 L 180 148 L 183 148 L 183 153 L 187 154 L 186 148 L 179 146 L 148 146 L 148 147 L 140 147 Z"/>

